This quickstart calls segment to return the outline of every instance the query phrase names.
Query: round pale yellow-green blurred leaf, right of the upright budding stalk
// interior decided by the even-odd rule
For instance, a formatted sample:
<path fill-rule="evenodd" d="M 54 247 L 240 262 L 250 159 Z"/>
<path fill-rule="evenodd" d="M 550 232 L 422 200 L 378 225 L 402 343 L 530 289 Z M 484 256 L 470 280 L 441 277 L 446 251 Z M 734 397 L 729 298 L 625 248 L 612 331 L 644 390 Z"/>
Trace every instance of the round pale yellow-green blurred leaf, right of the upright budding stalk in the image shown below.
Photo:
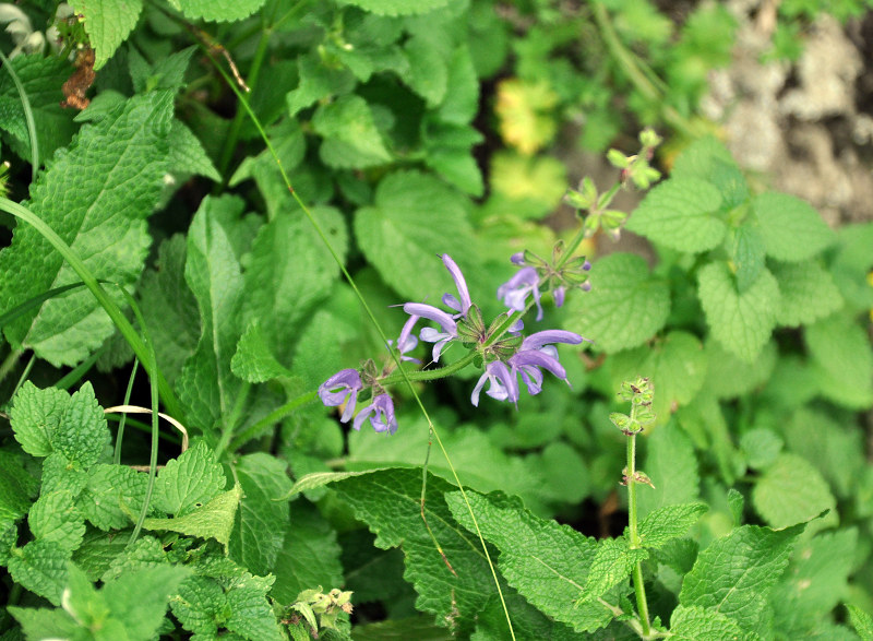
<path fill-rule="evenodd" d="M 797 454 L 780 454 L 757 479 L 752 503 L 774 527 L 786 527 L 834 510 L 837 500 L 821 473 Z"/>

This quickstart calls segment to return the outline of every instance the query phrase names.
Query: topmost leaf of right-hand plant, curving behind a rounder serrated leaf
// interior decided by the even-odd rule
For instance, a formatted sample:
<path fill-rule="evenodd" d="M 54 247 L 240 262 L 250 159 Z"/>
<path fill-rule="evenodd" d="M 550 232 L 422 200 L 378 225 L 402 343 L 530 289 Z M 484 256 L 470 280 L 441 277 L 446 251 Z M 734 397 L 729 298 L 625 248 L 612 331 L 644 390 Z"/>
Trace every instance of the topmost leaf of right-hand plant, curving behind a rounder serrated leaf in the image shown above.
<path fill-rule="evenodd" d="M 675 159 L 671 176 L 698 178 L 721 192 L 727 207 L 736 207 L 749 198 L 749 186 L 728 149 L 711 135 L 690 144 Z"/>

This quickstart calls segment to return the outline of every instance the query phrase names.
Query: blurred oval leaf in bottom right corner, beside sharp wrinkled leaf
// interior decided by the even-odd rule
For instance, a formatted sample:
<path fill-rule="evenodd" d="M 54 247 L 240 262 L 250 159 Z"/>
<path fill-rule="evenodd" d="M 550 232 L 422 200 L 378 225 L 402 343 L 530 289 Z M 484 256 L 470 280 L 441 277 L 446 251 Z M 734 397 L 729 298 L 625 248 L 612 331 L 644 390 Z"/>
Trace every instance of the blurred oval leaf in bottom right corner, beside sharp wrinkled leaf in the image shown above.
<path fill-rule="evenodd" d="M 788 570 L 770 595 L 778 630 L 800 638 L 827 618 L 849 589 L 857 546 L 858 530 L 853 527 L 822 533 L 798 544 Z"/>

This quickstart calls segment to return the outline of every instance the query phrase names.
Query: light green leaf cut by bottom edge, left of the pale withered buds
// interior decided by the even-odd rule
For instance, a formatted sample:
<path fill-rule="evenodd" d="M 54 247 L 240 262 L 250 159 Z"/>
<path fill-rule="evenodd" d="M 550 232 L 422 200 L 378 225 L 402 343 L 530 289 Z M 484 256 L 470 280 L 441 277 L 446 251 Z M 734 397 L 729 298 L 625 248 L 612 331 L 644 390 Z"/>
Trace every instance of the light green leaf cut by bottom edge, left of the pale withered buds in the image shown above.
<path fill-rule="evenodd" d="M 157 566 L 124 573 L 107 582 L 100 593 L 112 618 L 124 626 L 128 639 L 154 639 L 164 621 L 170 596 L 191 573 L 181 566 Z"/>

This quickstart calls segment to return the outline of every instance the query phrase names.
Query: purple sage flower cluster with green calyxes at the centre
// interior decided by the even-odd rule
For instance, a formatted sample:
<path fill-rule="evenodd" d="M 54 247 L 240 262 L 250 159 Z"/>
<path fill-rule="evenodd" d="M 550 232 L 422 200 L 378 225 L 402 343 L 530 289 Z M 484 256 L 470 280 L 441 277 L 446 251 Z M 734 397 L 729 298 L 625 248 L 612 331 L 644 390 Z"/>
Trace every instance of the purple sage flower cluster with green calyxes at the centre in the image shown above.
<path fill-rule="evenodd" d="M 569 384 L 566 371 L 558 360 L 558 349 L 554 345 L 558 343 L 577 345 L 585 339 L 564 330 L 547 330 L 522 337 L 523 323 L 521 320 L 513 322 L 512 318 L 507 318 L 513 313 L 526 311 L 530 305 L 536 305 L 537 320 L 540 320 L 542 318 L 539 289 L 541 284 L 549 287 L 559 307 L 563 304 L 564 290 L 567 285 L 587 288 L 585 272 L 590 269 L 590 263 L 585 259 L 574 259 L 567 261 L 566 265 L 562 265 L 559 262 L 560 251 L 562 248 L 555 248 L 552 264 L 527 252 L 513 257 L 513 262 L 522 266 L 522 270 L 498 289 L 498 297 L 503 299 L 509 311 L 506 314 L 498 317 L 489 328 L 486 328 L 479 308 L 470 299 L 467 282 L 461 269 L 449 254 L 443 254 L 443 264 L 452 275 L 457 288 L 457 296 L 444 294 L 442 297 L 442 304 L 449 308 L 449 311 L 424 302 L 405 304 L 403 310 L 409 314 L 409 318 L 397 341 L 392 341 L 390 346 L 396 348 L 402 360 L 416 363 L 418 361 L 407 354 L 416 347 L 419 339 L 433 344 L 431 349 L 433 363 L 440 361 L 440 357 L 450 343 L 457 342 L 469 347 L 473 354 L 468 361 L 485 365 L 485 371 L 470 395 L 470 402 L 477 407 L 480 393 L 486 385 L 488 385 L 486 394 L 492 399 L 510 401 L 515 404 L 518 402 L 522 385 L 531 395 L 538 394 L 542 390 L 543 370 Z M 531 297 L 533 300 L 528 301 Z M 431 321 L 439 328 L 422 328 L 417 339 L 412 332 L 421 319 Z M 369 363 L 372 364 L 372 361 Z M 363 422 L 369 418 L 375 431 L 394 434 L 397 430 L 394 403 L 382 385 L 397 381 L 388 380 L 390 369 L 381 377 L 373 371 L 372 367 L 364 367 L 362 372 L 363 378 L 356 369 L 344 369 L 335 373 L 319 388 L 319 396 L 327 406 L 344 406 L 339 420 L 348 423 L 355 414 L 358 394 L 369 388 L 372 390 L 372 402 L 355 416 L 352 427 L 360 429 Z M 415 380 L 415 375 L 410 373 L 408 378 Z"/>

